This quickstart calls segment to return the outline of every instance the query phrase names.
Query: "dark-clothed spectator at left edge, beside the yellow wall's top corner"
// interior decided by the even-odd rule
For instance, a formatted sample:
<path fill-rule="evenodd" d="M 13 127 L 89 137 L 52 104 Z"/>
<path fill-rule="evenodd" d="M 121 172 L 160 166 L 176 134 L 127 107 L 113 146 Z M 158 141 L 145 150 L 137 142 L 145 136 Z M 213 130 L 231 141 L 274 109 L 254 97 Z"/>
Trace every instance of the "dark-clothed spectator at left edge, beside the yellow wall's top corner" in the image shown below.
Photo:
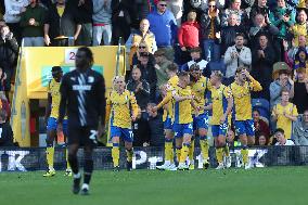
<path fill-rule="evenodd" d="M 4 89 L 5 94 L 9 95 L 11 78 L 17 60 L 18 44 L 13 33 L 10 31 L 9 26 L 2 26 L 0 34 L 0 67 L 2 67 L 3 72 L 7 74 Z"/>

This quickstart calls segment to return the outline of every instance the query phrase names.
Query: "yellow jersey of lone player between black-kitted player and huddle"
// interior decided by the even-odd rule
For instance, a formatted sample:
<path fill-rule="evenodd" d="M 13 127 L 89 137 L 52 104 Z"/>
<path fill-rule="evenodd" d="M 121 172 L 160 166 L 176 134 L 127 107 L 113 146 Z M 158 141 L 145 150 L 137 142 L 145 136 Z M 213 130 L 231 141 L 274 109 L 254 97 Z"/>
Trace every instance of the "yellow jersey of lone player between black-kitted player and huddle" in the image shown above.
<path fill-rule="evenodd" d="M 131 112 L 138 116 L 138 104 L 133 92 L 125 90 L 123 93 L 112 91 L 106 101 L 106 121 L 112 126 L 131 129 Z"/>

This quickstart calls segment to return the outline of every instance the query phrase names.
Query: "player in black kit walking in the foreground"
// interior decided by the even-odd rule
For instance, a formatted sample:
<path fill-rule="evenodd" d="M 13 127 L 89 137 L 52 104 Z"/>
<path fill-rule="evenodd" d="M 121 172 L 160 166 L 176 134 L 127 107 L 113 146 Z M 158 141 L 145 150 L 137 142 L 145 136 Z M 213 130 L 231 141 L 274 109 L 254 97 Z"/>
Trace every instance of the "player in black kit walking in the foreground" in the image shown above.
<path fill-rule="evenodd" d="M 76 69 L 62 78 L 57 130 L 63 130 L 64 116 L 68 115 L 68 162 L 74 174 L 73 193 L 80 191 L 81 175 L 77 152 L 84 146 L 84 184 L 81 194 L 89 194 L 89 183 L 93 171 L 93 148 L 97 137 L 105 127 L 105 84 L 101 74 L 92 69 L 93 53 L 81 47 L 76 53 Z"/>

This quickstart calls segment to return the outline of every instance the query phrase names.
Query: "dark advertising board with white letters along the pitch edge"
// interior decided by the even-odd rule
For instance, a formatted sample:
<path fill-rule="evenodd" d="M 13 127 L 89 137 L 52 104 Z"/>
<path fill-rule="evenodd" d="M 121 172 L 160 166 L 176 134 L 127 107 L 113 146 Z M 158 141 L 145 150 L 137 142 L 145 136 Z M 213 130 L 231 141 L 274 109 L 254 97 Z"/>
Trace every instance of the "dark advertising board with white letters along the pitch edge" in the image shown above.
<path fill-rule="evenodd" d="M 232 167 L 241 166 L 240 148 L 230 148 Z M 163 148 L 134 148 L 133 168 L 134 169 L 155 169 L 164 161 Z M 216 167 L 215 149 L 209 150 L 210 166 Z M 78 152 L 80 167 L 82 167 L 82 150 Z M 308 146 L 262 146 L 251 148 L 249 158 L 255 167 L 270 166 L 304 166 L 308 165 Z M 111 148 L 99 148 L 93 153 L 95 169 L 112 169 Z M 196 168 L 202 168 L 202 156 L 200 149 L 196 148 L 194 164 Z M 120 151 L 120 167 L 125 167 L 126 153 Z M 66 168 L 65 149 L 56 148 L 54 152 L 54 168 L 63 170 Z M 33 171 L 46 170 L 44 149 L 20 149 L 0 148 L 0 172 L 1 171 Z"/>

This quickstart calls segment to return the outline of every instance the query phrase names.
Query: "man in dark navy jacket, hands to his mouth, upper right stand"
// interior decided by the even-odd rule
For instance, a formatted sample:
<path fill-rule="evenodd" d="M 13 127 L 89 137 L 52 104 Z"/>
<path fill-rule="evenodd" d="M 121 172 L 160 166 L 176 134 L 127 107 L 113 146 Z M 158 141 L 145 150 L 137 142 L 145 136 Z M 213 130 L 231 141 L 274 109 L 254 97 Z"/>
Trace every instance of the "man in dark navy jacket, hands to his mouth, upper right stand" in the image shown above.
<path fill-rule="evenodd" d="M 251 48 L 258 47 L 258 38 L 260 35 L 266 35 L 269 43 L 273 43 L 274 36 L 279 34 L 279 29 L 272 25 L 268 17 L 265 18 L 262 14 L 255 16 L 254 26 L 249 29 Z"/>

